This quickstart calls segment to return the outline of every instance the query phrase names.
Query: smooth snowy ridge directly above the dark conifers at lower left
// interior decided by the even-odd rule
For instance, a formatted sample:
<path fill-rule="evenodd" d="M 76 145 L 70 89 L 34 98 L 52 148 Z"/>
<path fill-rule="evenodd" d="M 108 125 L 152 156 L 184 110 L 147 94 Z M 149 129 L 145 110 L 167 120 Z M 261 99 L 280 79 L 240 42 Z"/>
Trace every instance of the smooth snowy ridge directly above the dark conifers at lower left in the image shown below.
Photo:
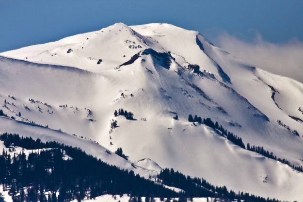
<path fill-rule="evenodd" d="M 134 168 L 131 162 L 125 160 L 124 158 L 116 155 L 115 153 L 106 152 L 107 149 L 103 146 L 96 144 L 91 140 L 85 140 L 82 138 L 75 137 L 74 135 L 69 135 L 63 132 L 59 132 L 56 130 L 52 130 L 43 126 L 38 126 L 35 124 L 26 123 L 23 121 L 16 121 L 10 118 L 0 117 L 0 134 L 5 132 L 16 133 L 23 136 L 31 136 L 32 138 L 40 138 L 43 142 L 47 141 L 57 141 L 59 143 L 63 143 L 65 145 L 70 145 L 73 147 L 80 147 L 86 153 L 96 156 L 100 158 L 102 161 L 107 162 L 111 165 L 115 165 L 120 168 L 133 170 L 135 173 L 139 173 L 144 177 L 148 177 L 149 175 L 156 175 L 158 172 L 154 170 L 149 170 L 144 167 Z M 5 148 L 2 141 L 0 141 L 0 150 Z M 15 148 L 16 152 L 19 153 L 22 149 L 19 147 Z M 24 150 L 27 154 L 33 150 Z M 67 156 L 66 156 L 67 157 Z"/>

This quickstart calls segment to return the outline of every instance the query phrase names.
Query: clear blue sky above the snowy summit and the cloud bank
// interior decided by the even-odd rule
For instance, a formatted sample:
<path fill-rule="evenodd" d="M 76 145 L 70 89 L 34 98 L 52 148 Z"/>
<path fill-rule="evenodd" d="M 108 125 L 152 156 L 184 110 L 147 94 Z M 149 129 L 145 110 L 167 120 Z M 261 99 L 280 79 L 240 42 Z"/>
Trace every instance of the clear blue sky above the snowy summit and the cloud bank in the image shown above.
<path fill-rule="evenodd" d="M 0 0 L 0 52 L 124 22 L 171 23 L 209 40 L 303 41 L 302 0 Z"/>

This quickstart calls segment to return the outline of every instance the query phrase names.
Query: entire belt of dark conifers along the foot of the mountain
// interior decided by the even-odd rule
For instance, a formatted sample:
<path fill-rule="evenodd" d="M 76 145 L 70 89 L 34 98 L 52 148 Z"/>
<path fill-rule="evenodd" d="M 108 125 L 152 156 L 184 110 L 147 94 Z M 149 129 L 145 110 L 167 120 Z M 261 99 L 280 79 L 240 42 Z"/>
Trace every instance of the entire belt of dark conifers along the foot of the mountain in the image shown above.
<path fill-rule="evenodd" d="M 25 149 L 43 149 L 31 152 L 28 157 L 24 152 L 10 155 L 3 149 L 0 154 L 0 184 L 9 190 L 14 202 L 63 202 L 81 201 L 85 196 L 94 199 L 103 194 L 131 194 L 145 202 L 153 197 L 173 198 L 186 201 L 184 197 L 218 197 L 241 199 L 254 202 L 277 202 L 248 193 L 236 194 L 225 186 L 218 187 L 200 178 L 191 178 L 174 171 L 163 169 L 158 175 L 158 182 L 175 186 L 184 190 L 176 193 L 158 182 L 144 179 L 133 171 L 110 166 L 100 159 L 88 155 L 80 148 L 73 148 L 58 142 L 42 142 L 40 139 L 23 137 L 18 134 L 2 134 L 0 140 L 6 147 L 22 147 Z M 123 154 L 121 148 L 116 151 Z M 64 158 L 64 156 L 69 158 Z M 26 190 L 24 190 L 26 189 Z M 56 195 L 59 192 L 59 195 Z M 140 199 L 139 199 L 140 198 Z M 133 198 L 134 199 L 134 198 Z M 184 200 L 185 199 L 185 200 Z"/>

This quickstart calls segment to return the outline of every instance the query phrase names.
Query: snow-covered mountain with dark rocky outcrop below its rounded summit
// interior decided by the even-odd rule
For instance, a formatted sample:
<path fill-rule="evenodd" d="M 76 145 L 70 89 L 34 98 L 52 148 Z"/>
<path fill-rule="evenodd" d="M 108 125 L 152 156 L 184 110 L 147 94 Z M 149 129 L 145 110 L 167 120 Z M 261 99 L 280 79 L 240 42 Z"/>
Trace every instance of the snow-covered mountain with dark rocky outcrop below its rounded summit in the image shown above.
<path fill-rule="evenodd" d="M 1 133 L 79 146 L 144 176 L 174 168 L 236 191 L 303 200 L 303 172 L 188 121 L 211 118 L 302 166 L 303 84 L 252 67 L 197 32 L 117 23 L 1 55 L 0 109 L 18 120 L 0 117 Z M 115 117 L 120 108 L 133 120 Z M 113 153 L 120 147 L 130 161 Z"/>

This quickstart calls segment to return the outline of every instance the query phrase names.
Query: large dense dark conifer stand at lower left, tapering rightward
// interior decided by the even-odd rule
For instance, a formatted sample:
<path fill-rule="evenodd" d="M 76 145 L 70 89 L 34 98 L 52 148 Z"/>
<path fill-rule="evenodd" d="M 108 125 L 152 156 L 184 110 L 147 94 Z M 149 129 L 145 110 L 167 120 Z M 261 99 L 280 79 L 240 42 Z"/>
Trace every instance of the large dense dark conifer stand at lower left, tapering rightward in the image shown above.
<path fill-rule="evenodd" d="M 135 175 L 133 171 L 110 166 L 79 148 L 57 142 L 43 143 L 40 139 L 16 134 L 0 135 L 0 140 L 11 148 L 13 144 L 25 149 L 50 148 L 31 152 L 28 158 L 23 152 L 11 156 L 3 150 L 0 155 L 0 184 L 9 189 L 14 202 L 46 202 L 47 191 L 51 202 L 82 200 L 86 195 L 94 198 L 124 193 L 147 197 L 178 196 L 162 185 Z M 70 158 L 64 160 L 64 155 Z M 27 190 L 24 191 L 23 187 Z M 57 191 L 58 197 L 54 194 Z"/>

